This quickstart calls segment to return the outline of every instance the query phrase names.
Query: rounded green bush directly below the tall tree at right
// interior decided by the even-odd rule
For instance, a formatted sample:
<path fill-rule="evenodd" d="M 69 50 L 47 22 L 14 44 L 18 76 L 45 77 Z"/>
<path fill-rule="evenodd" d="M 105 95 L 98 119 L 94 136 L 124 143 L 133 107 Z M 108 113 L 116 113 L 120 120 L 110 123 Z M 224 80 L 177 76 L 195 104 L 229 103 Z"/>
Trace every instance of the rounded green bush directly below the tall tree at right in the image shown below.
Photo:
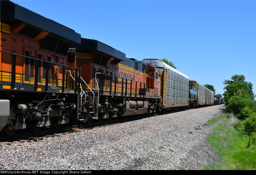
<path fill-rule="evenodd" d="M 228 100 L 228 105 L 227 105 L 227 111 L 228 112 L 233 112 L 234 115 L 238 115 L 241 113 L 242 109 L 244 107 L 253 107 L 254 108 L 254 102 L 252 99 L 249 98 L 244 98 L 244 97 L 238 97 L 238 96 L 232 96 Z M 244 109 L 244 112 L 246 113 L 247 109 Z M 246 114 L 244 114 L 246 115 Z"/>

